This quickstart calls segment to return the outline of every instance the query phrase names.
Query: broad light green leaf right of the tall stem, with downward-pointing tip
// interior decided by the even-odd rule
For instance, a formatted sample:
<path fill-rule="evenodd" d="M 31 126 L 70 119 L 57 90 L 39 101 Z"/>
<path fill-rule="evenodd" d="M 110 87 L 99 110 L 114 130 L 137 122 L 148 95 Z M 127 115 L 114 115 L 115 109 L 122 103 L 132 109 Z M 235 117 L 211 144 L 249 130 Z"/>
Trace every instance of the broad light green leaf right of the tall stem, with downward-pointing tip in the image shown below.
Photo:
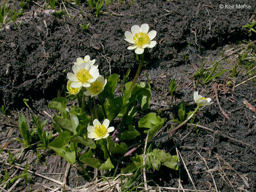
<path fill-rule="evenodd" d="M 149 113 L 140 119 L 140 121 L 138 122 L 138 127 L 139 128 L 144 127 L 144 128 L 150 129 L 148 133 L 148 140 L 150 140 L 154 136 L 154 134 L 159 129 L 161 129 L 165 121 L 166 121 L 166 118 L 161 118 L 157 116 L 156 113 Z"/>

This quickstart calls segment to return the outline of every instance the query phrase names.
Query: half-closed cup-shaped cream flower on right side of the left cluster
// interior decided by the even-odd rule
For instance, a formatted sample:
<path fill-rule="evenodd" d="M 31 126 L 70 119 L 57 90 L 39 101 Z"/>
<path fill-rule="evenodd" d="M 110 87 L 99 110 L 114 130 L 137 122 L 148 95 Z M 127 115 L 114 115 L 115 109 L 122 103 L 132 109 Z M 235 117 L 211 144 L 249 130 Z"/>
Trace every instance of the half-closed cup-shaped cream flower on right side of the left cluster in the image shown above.
<path fill-rule="evenodd" d="M 90 87 L 86 88 L 84 94 L 86 96 L 96 96 L 104 90 L 106 83 L 107 79 L 100 75 L 95 82 L 91 83 Z"/>

